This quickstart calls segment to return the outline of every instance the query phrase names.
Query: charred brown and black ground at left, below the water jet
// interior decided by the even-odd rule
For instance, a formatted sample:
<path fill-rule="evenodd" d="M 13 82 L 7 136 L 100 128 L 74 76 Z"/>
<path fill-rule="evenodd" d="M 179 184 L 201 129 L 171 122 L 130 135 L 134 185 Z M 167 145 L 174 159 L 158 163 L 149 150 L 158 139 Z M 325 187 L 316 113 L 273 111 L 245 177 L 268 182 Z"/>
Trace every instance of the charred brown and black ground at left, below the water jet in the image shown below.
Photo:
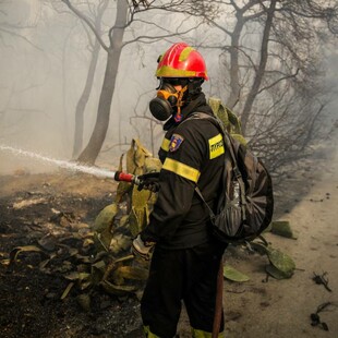
<path fill-rule="evenodd" d="M 69 285 L 64 273 L 75 264 L 68 249 L 84 250 L 79 233 L 88 231 L 99 210 L 111 203 L 114 183 L 58 173 L 3 176 L 0 185 L 2 263 L 14 248 L 44 249 L 20 253 L 14 264 L 0 264 L 1 337 L 140 336 L 135 297 L 117 298 L 93 289 L 90 311 L 79 304 L 76 288 L 61 300 Z M 49 271 L 40 269 L 44 252 L 58 255 Z"/>

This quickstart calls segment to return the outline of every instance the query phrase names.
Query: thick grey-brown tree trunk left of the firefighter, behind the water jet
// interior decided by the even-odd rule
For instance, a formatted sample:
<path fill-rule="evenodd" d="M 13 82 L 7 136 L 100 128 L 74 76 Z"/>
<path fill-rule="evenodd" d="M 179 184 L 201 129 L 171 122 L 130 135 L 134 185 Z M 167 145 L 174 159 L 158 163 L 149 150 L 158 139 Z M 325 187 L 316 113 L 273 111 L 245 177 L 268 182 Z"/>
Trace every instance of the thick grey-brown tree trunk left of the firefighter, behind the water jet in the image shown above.
<path fill-rule="evenodd" d="M 110 47 L 107 53 L 107 65 L 101 94 L 99 97 L 96 123 L 90 140 L 81 153 L 77 160 L 87 165 L 94 165 L 106 138 L 112 95 L 119 69 L 119 61 L 122 51 L 123 34 L 126 24 L 128 2 L 118 0 L 116 24 L 110 38 Z"/>

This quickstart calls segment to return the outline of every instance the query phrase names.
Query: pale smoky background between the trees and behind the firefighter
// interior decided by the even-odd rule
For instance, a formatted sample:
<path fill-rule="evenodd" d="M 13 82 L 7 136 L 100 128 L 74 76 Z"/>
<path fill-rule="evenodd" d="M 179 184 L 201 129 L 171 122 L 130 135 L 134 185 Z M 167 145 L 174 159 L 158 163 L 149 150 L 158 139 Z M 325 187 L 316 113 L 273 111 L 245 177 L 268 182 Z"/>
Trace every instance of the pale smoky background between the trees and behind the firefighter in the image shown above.
<path fill-rule="evenodd" d="M 70 10 L 67 2 L 89 17 L 93 24 L 99 5 L 106 5 L 100 20 L 100 36 L 104 43 L 109 44 L 107 34 L 113 27 L 121 0 L 0 1 L 0 144 L 52 158 L 75 160 L 80 155 L 74 154 L 73 149 L 75 110 L 86 83 L 95 35 L 83 19 Z M 266 27 L 267 9 L 271 8 L 273 2 L 275 11 L 283 5 L 282 1 L 263 1 L 265 8 L 257 8 L 254 2 L 234 1 L 238 8 L 249 9 L 249 12 L 241 12 L 226 1 L 219 1 L 214 7 L 208 1 L 185 1 L 183 5 L 179 5 L 179 1 L 152 1 L 149 8 L 142 2 L 135 8 L 132 1 L 125 0 L 129 21 L 118 64 L 107 135 L 95 159 L 97 166 L 117 168 L 120 155 L 129 148 L 133 137 L 140 138 L 154 155 L 157 154 L 164 132 L 161 124 L 152 119 L 148 101 L 156 95 L 157 58 L 172 43 L 186 41 L 198 49 L 206 60 L 210 79 L 203 84 L 206 96 L 219 97 L 245 119 L 248 98 L 262 64 L 262 27 Z M 335 8 L 335 2 L 330 1 L 314 3 Z M 242 59 L 237 64 L 237 70 L 231 59 L 233 32 L 239 26 L 236 11 L 246 16 L 257 15 L 257 20 L 252 22 L 243 19 L 239 47 L 236 47 L 241 49 L 239 58 Z M 261 12 L 263 14 L 258 15 Z M 280 32 L 277 31 L 282 27 L 281 19 L 276 19 L 275 22 L 276 26 L 273 28 L 278 36 Z M 293 27 L 289 27 L 286 32 L 294 35 L 295 31 L 292 29 Z M 268 56 L 279 56 L 267 63 L 265 77 L 257 85 L 258 93 L 245 123 L 245 136 L 253 149 L 266 157 L 278 179 L 289 170 L 289 162 L 310 156 L 319 145 L 321 154 L 330 154 L 337 144 L 336 31 L 328 29 L 321 22 L 314 23 L 314 27 L 309 27 L 310 29 L 311 34 L 314 31 L 321 32 L 311 40 L 313 45 L 304 45 L 303 50 L 294 48 L 299 56 L 313 57 L 303 60 L 299 58 L 300 63 L 313 62 L 304 67 L 303 71 L 297 70 L 302 69 L 301 65 L 290 65 L 289 57 L 280 57 L 287 53 L 286 50 L 280 48 L 281 44 L 274 45 L 274 38 L 270 37 Z M 303 39 L 300 41 L 303 43 Z M 88 144 L 97 118 L 106 60 L 107 51 L 98 48 L 93 84 L 84 110 L 82 149 Z M 281 77 L 278 79 L 278 72 L 282 73 L 281 70 L 287 68 L 290 68 L 291 75 L 288 77 L 283 73 L 281 77 L 292 79 L 294 75 L 299 83 L 291 83 L 290 80 L 286 84 Z M 240 74 L 236 84 L 233 71 Z M 317 75 L 315 81 L 311 77 L 314 73 Z M 273 87 L 273 84 L 276 86 Z M 304 85 L 301 93 L 303 96 L 301 97 L 301 90 L 297 95 L 290 95 L 300 85 Z M 261 93 L 262 88 L 267 94 Z M 286 101 L 282 105 L 279 104 L 281 97 Z M 305 105 L 314 107 L 314 102 L 321 104 L 307 118 Z M 277 111 L 288 113 L 278 116 Z M 294 117 L 302 119 L 297 120 Z M 274 119 L 282 121 L 278 129 L 274 129 L 277 123 Z M 304 126 L 304 121 L 312 119 L 313 123 L 302 131 L 302 123 Z M 299 136 L 295 141 L 292 140 L 292 145 L 288 145 L 287 140 L 295 134 L 292 125 L 295 125 Z M 288 129 L 289 134 L 283 135 L 283 131 Z M 298 140 L 301 146 L 294 148 L 290 156 L 285 155 Z M 1 173 L 13 173 L 19 168 L 29 172 L 55 169 L 29 158 L 0 152 Z"/>

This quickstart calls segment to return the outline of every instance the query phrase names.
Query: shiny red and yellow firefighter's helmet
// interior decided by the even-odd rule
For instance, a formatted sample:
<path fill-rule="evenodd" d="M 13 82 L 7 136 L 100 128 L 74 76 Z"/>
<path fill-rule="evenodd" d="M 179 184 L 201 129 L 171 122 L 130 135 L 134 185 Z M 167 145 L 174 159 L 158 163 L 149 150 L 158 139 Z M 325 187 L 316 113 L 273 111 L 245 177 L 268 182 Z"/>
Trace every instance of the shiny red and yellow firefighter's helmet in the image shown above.
<path fill-rule="evenodd" d="M 184 43 L 172 45 L 159 58 L 157 77 L 202 77 L 208 80 L 203 57 Z"/>

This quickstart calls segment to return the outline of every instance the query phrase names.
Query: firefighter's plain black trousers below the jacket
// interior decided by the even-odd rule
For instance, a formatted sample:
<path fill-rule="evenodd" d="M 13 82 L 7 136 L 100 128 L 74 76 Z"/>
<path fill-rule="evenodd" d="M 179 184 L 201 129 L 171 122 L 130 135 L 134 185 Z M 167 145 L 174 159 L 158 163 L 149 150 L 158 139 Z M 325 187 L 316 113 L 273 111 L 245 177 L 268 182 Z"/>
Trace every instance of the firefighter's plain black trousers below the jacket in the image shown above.
<path fill-rule="evenodd" d="M 191 326 L 212 333 L 224 250 L 222 244 L 215 242 L 182 250 L 156 246 L 141 301 L 144 326 L 160 338 L 172 338 L 183 300 Z"/>

